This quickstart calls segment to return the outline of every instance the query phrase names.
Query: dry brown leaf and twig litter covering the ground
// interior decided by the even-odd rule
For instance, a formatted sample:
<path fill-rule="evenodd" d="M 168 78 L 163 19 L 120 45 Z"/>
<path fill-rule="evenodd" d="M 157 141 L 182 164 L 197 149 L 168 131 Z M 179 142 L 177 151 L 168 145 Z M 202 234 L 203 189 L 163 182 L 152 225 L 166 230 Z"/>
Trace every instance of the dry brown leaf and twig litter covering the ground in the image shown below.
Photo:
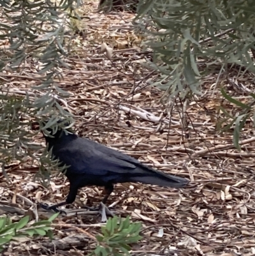
<path fill-rule="evenodd" d="M 133 32 L 133 15 L 96 13 L 92 1 L 86 6 L 91 19 L 83 26 L 85 38 L 73 40 L 73 51 L 65 59 L 71 68 L 62 68 L 64 79 L 58 83 L 71 94 L 61 103 L 75 114 L 77 133 L 191 180 L 180 190 L 117 184 L 108 206 L 116 215 L 131 215 L 133 221 L 143 223 L 143 239 L 131 254 L 254 255 L 252 125 L 247 121 L 241 134 L 241 151 L 233 147 L 231 131 L 217 132 L 216 121 L 222 117 L 219 106 L 238 110 L 222 98 L 221 88 L 214 84 L 217 75 L 211 75 L 203 80 L 203 96 L 189 102 L 184 126 L 183 103 L 177 99 L 170 111 L 169 105 L 160 102 L 163 92 L 149 86 L 158 74 L 143 66 L 149 55 L 140 50 L 142 39 Z M 31 87 L 39 83 L 37 66 L 29 59 L 25 65 L 22 75 L 0 73 L 10 93 L 33 95 Z M 231 75 L 235 78 L 237 73 Z M 245 90 L 222 84 L 231 96 L 239 96 L 241 101 L 244 97 L 245 103 L 252 78 L 242 82 Z M 41 135 L 34 142 L 44 145 Z M 21 215 L 38 213 L 38 218 L 46 218 L 51 214 L 35 209 L 34 202 L 64 200 L 68 180 L 54 177 L 45 189 L 33 182 L 37 171 L 29 162 L 14 162 L 8 168 L 10 184 L 1 174 L 1 215 L 8 213 L 18 220 Z M 68 215 L 54 222 L 53 242 L 45 237 L 12 242 L 3 255 L 87 255 L 104 223 L 78 207 L 99 204 L 101 194 L 101 188 L 82 188 L 75 204 L 67 207 Z"/>

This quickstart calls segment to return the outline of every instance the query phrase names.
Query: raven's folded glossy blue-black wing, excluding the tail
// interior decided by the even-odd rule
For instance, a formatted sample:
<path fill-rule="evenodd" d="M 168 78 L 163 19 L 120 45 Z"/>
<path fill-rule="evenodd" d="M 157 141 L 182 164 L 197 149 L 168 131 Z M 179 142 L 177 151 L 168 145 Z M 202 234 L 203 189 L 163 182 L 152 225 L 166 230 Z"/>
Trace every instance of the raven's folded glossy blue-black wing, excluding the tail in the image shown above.
<path fill-rule="evenodd" d="M 130 173 L 142 165 L 127 154 L 81 137 L 58 149 L 55 156 L 66 165 L 71 165 L 72 172 L 77 174 L 84 170 L 94 175 L 104 175 L 108 172 Z"/>

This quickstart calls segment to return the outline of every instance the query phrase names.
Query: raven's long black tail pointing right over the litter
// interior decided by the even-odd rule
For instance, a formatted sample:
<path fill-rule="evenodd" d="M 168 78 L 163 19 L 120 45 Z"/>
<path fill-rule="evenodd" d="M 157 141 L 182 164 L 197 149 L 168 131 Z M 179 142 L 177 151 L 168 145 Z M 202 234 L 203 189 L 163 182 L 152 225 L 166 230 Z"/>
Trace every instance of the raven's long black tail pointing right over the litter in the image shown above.
<path fill-rule="evenodd" d="M 170 188 L 181 188 L 185 186 L 189 181 L 183 177 L 173 176 L 165 174 L 164 172 L 148 172 L 138 174 L 130 178 L 130 182 L 140 182 L 144 184 L 152 184 L 158 186 L 169 186 Z"/>

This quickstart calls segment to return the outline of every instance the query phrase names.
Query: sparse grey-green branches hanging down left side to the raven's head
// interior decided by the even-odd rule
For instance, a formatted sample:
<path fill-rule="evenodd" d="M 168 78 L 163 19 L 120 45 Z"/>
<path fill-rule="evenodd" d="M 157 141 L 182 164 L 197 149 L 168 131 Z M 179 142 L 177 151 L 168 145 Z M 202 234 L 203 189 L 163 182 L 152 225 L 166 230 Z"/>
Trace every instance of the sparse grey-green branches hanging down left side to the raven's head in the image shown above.
<path fill-rule="evenodd" d="M 58 82 L 62 79 L 61 68 L 68 68 L 62 56 L 68 54 L 69 41 L 65 33 L 69 15 L 75 13 L 79 5 L 79 0 L 56 0 L 55 3 L 0 0 L 0 40 L 8 42 L 0 52 L 0 72 L 15 77 L 15 74 L 27 72 L 29 64 L 25 63 L 37 63 L 34 65 L 37 82 L 30 90 L 13 89 L 6 79 L 0 79 L 1 165 L 8 165 L 11 160 L 22 162 L 26 156 L 38 162 L 34 152 L 41 146 L 31 143 L 33 121 L 47 121 L 50 117 L 55 121 L 59 116 L 71 120 L 71 114 L 61 106 L 69 93 L 61 89 Z M 50 120 L 49 123 L 54 122 Z M 57 126 L 56 121 L 54 125 Z M 45 174 L 45 167 L 50 166 L 50 162 L 48 156 L 41 158 L 40 174 Z M 54 163 L 52 167 L 56 166 Z"/>

